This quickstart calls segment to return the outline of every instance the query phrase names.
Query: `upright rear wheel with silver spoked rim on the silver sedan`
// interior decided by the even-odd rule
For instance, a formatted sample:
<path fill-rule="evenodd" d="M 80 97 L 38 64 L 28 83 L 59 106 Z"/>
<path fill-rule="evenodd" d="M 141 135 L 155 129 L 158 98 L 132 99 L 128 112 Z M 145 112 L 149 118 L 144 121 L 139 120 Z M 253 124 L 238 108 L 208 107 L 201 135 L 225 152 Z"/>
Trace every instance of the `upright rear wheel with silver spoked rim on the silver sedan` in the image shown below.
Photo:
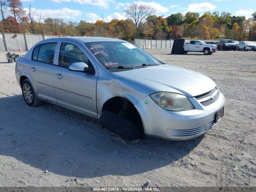
<path fill-rule="evenodd" d="M 32 84 L 28 79 L 25 79 L 22 84 L 22 95 L 28 106 L 37 106 L 41 104 L 41 100 L 36 96 Z"/>

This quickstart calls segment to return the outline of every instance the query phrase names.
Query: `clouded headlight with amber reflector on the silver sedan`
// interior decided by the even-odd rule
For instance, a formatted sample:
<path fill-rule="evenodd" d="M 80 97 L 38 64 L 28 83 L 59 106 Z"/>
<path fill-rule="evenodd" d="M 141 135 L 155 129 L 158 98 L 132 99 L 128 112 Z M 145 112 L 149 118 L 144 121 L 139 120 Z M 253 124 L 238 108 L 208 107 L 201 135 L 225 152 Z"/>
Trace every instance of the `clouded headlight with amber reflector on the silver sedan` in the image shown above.
<path fill-rule="evenodd" d="M 172 92 L 157 92 L 150 97 L 162 108 L 170 111 L 186 111 L 194 109 L 193 104 L 184 95 Z"/>

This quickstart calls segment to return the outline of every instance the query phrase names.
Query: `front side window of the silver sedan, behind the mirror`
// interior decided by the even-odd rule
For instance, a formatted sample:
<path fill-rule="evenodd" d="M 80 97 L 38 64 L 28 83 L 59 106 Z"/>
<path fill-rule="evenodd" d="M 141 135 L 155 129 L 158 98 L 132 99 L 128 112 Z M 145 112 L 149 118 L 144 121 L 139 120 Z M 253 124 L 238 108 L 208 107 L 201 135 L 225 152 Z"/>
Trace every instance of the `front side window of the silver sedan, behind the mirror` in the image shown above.
<path fill-rule="evenodd" d="M 70 43 L 62 43 L 60 46 L 59 66 L 68 68 L 76 62 L 84 62 L 89 67 L 92 66 L 88 57 L 78 48 L 78 46 Z"/>

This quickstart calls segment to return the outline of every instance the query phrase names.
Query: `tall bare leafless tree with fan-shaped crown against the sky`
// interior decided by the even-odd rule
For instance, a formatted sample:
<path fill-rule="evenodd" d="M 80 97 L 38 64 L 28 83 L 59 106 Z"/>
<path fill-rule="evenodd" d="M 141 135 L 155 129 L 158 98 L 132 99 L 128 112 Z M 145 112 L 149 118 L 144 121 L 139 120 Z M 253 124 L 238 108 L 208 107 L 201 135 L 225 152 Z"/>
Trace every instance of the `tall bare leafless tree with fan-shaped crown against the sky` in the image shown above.
<path fill-rule="evenodd" d="M 155 12 L 155 9 L 140 2 L 133 2 L 132 4 L 129 4 L 127 6 L 124 12 L 126 16 L 132 18 L 132 20 L 135 22 L 136 37 L 141 24 L 146 20 L 148 16 L 152 15 Z"/>

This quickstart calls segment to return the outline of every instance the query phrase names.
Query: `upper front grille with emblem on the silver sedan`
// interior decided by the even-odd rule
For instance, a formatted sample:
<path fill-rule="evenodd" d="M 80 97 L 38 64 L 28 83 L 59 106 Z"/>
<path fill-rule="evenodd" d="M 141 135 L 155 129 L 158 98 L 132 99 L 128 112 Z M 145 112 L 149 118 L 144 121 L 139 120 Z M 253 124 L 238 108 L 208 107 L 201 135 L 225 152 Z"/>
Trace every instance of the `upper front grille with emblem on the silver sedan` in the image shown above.
<path fill-rule="evenodd" d="M 219 98 L 219 92 L 217 88 L 214 88 L 210 92 L 202 95 L 195 96 L 196 100 L 200 102 L 203 106 L 207 106 L 215 102 Z"/>

